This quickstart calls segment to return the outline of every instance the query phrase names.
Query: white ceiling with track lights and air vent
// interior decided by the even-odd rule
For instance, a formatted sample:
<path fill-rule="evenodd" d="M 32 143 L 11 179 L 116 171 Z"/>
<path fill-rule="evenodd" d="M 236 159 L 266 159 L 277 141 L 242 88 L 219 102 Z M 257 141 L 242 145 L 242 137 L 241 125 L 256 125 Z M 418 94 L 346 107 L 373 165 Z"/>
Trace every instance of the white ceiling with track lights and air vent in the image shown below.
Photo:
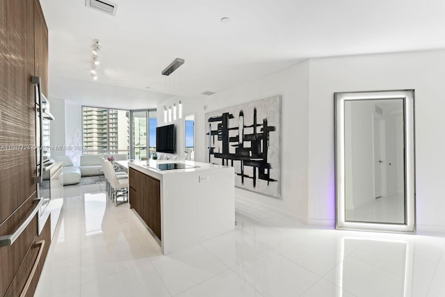
<path fill-rule="evenodd" d="M 137 89 L 140 104 L 154 104 L 164 98 L 159 93 L 205 97 L 200 93 L 305 58 L 445 47 L 442 0 L 113 0 L 115 17 L 86 8 L 85 0 L 40 1 L 49 28 L 50 96 L 65 90 L 75 101 L 83 95 L 72 80 L 97 90 Z M 95 39 L 103 47 L 92 81 Z M 186 62 L 161 75 L 175 58 Z"/>

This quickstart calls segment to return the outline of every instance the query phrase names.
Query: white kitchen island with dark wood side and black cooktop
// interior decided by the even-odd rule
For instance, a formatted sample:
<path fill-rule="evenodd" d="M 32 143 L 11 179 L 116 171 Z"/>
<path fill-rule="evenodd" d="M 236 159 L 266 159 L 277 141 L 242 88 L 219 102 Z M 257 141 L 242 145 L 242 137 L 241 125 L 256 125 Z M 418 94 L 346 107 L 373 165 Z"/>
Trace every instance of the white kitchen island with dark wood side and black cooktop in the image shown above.
<path fill-rule="evenodd" d="M 129 171 L 130 207 L 164 255 L 234 230 L 234 168 L 178 160 L 119 163 Z"/>

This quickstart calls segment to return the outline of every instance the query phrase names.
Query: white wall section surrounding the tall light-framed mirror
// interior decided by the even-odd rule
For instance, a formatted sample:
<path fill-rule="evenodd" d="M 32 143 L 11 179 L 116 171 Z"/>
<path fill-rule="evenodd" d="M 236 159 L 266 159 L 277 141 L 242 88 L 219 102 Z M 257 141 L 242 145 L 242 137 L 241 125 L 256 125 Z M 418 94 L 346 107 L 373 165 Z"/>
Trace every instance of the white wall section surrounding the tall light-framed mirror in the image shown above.
<path fill-rule="evenodd" d="M 309 64 L 309 223 L 334 225 L 333 93 L 414 88 L 418 230 L 445 230 L 445 51 L 319 58 Z"/>

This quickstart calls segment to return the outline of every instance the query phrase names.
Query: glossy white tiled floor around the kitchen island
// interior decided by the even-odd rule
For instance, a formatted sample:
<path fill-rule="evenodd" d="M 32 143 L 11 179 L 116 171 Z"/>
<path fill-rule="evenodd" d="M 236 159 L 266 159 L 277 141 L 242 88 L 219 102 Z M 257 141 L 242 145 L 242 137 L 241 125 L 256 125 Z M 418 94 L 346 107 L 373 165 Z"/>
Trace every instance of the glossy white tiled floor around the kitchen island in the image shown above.
<path fill-rule="evenodd" d="M 161 255 L 103 185 L 65 187 L 35 296 L 445 296 L 445 238 L 310 228 L 237 204 L 233 232 Z"/>

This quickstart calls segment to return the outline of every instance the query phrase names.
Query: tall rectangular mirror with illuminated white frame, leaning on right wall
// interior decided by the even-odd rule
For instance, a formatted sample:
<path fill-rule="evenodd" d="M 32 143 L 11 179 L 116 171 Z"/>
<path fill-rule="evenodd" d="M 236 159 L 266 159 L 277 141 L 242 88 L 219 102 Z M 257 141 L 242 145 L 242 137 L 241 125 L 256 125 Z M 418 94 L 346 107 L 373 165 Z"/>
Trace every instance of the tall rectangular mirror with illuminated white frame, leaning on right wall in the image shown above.
<path fill-rule="evenodd" d="M 416 230 L 414 90 L 334 93 L 336 228 Z"/>

